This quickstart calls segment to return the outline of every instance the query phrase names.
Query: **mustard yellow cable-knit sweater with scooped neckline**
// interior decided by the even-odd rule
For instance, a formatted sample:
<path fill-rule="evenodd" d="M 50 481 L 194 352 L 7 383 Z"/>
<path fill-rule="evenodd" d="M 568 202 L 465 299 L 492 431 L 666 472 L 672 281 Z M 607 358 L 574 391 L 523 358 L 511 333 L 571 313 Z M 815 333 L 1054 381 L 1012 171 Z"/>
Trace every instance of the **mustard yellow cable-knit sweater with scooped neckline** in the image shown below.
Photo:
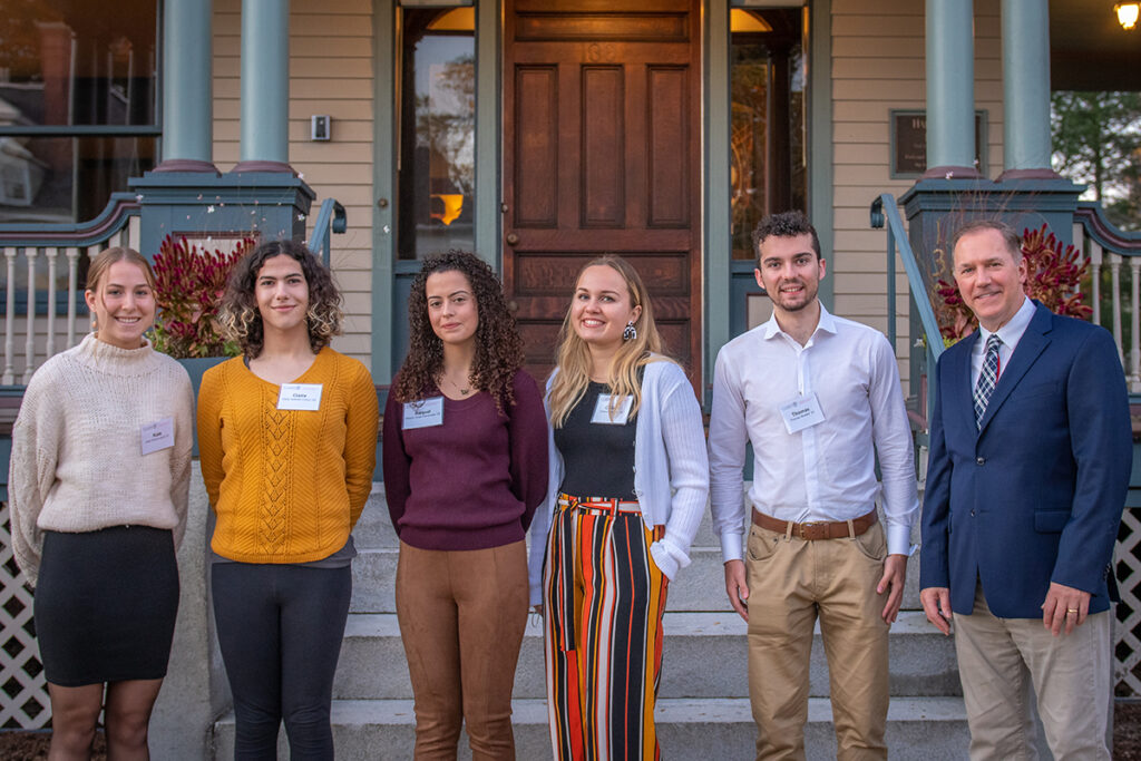
<path fill-rule="evenodd" d="M 317 412 L 278 410 L 280 386 L 242 357 L 207 371 L 199 453 L 218 516 L 211 547 L 240 562 L 308 562 L 345 547 L 372 489 L 377 388 L 356 359 L 324 348 L 298 383 Z"/>

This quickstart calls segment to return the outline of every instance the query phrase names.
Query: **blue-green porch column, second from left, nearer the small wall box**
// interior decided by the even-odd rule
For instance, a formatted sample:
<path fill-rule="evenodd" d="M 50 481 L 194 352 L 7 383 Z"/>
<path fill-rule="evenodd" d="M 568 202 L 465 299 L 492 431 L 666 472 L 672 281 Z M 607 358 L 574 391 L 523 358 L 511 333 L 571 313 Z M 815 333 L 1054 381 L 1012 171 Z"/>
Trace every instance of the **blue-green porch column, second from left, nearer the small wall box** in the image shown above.
<path fill-rule="evenodd" d="M 289 2 L 242 0 L 242 149 L 234 171 L 289 165 Z"/>

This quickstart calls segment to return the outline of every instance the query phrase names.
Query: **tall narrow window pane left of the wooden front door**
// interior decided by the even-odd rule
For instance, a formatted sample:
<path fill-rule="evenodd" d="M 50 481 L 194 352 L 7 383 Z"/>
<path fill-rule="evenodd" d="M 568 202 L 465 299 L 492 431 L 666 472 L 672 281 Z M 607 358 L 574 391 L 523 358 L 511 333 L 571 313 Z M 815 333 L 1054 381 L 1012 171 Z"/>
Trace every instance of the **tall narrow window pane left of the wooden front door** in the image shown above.
<path fill-rule="evenodd" d="M 475 245 L 475 15 L 406 9 L 400 91 L 400 259 Z"/>

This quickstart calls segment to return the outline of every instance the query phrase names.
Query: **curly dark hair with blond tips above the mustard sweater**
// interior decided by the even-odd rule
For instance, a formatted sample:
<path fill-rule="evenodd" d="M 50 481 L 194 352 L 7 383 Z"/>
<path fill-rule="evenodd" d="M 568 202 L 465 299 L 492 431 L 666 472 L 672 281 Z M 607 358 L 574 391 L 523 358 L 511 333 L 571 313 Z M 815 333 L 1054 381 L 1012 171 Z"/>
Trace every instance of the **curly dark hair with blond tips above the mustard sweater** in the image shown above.
<path fill-rule="evenodd" d="M 253 359 L 261 354 L 265 332 L 254 286 L 258 273 L 266 259 L 286 256 L 301 265 L 301 273 L 309 286 L 309 309 L 306 322 L 309 327 L 309 346 L 314 353 L 329 346 L 334 335 L 341 333 L 341 294 L 333 283 L 333 276 L 321 260 L 304 243 L 291 240 L 266 241 L 246 253 L 234 265 L 234 272 L 226 284 L 218 310 L 218 321 L 232 339 L 242 347 L 242 354 Z"/>

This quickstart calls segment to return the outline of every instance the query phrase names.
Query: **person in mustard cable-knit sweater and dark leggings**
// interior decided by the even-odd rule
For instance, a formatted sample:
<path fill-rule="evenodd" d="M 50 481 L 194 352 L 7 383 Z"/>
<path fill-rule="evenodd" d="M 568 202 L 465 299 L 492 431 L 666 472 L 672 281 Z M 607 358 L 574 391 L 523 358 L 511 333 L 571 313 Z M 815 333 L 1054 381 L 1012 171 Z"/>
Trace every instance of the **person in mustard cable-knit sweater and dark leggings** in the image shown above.
<path fill-rule="evenodd" d="M 212 591 L 235 759 L 332 759 L 333 671 L 353 591 L 350 535 L 372 487 L 377 392 L 329 342 L 340 294 L 300 243 L 269 241 L 230 276 L 222 322 L 243 356 L 199 394 L 202 476 L 217 516 Z"/>

